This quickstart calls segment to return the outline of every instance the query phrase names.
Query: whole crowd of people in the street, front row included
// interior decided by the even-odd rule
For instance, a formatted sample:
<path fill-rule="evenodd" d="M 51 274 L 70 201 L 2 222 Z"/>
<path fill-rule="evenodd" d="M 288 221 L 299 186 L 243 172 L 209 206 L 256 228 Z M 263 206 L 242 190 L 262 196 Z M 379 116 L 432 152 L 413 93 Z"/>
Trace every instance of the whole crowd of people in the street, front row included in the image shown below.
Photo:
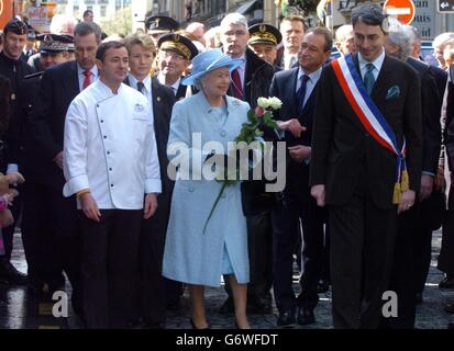
<path fill-rule="evenodd" d="M 192 328 L 210 328 L 204 287 L 221 282 L 241 329 L 273 299 L 278 327 L 314 324 L 330 286 L 335 328 L 414 328 L 442 227 L 440 287 L 454 288 L 454 33 L 429 65 L 418 31 L 374 4 L 335 36 L 239 13 L 208 31 L 146 15 L 107 36 L 88 11 L 42 34 L 14 18 L 0 45 L 0 284 L 48 299 L 67 279 L 86 328 L 165 328 L 186 288 Z M 285 143 L 285 188 L 197 178 L 195 162 L 226 160 L 204 146 L 228 149 L 267 97 L 276 127 L 256 127 Z"/>

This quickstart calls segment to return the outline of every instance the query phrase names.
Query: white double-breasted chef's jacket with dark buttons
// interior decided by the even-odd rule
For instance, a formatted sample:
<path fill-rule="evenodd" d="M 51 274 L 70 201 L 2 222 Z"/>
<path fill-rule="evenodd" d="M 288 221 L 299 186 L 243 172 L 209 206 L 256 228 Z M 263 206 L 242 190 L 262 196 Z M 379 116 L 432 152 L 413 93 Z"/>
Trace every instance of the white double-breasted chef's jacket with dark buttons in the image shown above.
<path fill-rule="evenodd" d="M 159 161 L 147 99 L 101 80 L 70 103 L 65 121 L 65 196 L 89 189 L 100 210 L 141 210 L 160 193 Z M 78 203 L 80 208 L 80 203 Z"/>

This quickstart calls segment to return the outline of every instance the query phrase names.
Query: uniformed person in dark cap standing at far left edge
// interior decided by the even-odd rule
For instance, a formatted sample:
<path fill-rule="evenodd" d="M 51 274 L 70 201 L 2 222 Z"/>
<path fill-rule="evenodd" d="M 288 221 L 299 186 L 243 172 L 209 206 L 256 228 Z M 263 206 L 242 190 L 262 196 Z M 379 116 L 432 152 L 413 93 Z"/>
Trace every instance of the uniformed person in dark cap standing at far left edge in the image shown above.
<path fill-rule="evenodd" d="M 14 121 L 18 116 L 18 91 L 19 84 L 22 79 L 30 73 L 33 73 L 33 69 L 21 59 L 23 48 L 26 43 L 26 36 L 29 29 L 26 24 L 18 19 L 13 19 L 7 23 L 3 29 L 3 48 L 0 52 L 0 76 L 10 80 L 11 95 L 11 117 L 10 127 L 5 134 L 5 157 L 0 160 L 1 171 L 4 173 L 18 171 L 19 169 L 19 155 L 14 155 L 11 150 L 18 143 L 19 136 L 15 131 L 11 128 L 11 121 Z M 14 218 L 18 218 L 21 210 L 21 200 L 18 197 L 14 201 L 14 207 L 12 207 Z M 10 262 L 11 252 L 13 249 L 13 234 L 14 224 L 3 229 L 3 240 L 5 247 L 5 256 L 0 261 L 0 283 L 7 283 L 11 285 L 25 284 L 26 275 L 19 272 Z"/>

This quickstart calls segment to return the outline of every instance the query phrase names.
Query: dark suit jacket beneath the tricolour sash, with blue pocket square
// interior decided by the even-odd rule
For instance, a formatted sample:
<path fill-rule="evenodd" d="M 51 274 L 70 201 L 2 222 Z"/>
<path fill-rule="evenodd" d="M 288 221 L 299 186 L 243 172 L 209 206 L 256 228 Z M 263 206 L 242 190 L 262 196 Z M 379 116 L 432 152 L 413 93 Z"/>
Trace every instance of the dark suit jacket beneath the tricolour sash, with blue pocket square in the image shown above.
<path fill-rule="evenodd" d="M 359 70 L 357 55 L 354 55 Z M 386 99 L 394 86 L 400 97 Z M 386 56 L 372 99 L 397 137 L 407 139 L 410 189 L 418 191 L 422 163 L 421 87 L 417 72 L 407 64 Z M 364 169 L 369 193 L 380 208 L 392 208 L 396 155 L 380 146 L 363 127 L 334 75 L 326 66 L 319 81 L 312 136 L 310 184 L 325 185 L 329 205 L 343 205 L 352 197 Z"/>

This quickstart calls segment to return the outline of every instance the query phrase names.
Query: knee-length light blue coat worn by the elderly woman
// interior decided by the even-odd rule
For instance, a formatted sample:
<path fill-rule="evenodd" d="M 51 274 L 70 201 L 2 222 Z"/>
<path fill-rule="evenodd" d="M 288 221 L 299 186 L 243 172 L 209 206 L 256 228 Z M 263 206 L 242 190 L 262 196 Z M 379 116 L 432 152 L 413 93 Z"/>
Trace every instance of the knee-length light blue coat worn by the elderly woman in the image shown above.
<path fill-rule="evenodd" d="M 167 146 L 182 141 L 191 149 L 200 149 L 193 138 L 193 133 L 200 133 L 201 146 L 208 141 L 221 141 L 226 152 L 228 141 L 233 141 L 239 135 L 250 109 L 247 103 L 231 97 L 226 97 L 226 102 L 224 124 L 214 118 L 213 109 L 202 92 L 177 102 L 171 114 Z M 171 155 L 169 148 L 167 152 L 175 165 L 177 157 Z M 200 158 L 203 161 L 206 156 Z M 182 169 L 179 168 L 179 174 Z M 193 174 L 192 169 L 190 174 Z M 221 186 L 222 183 L 203 178 L 177 179 L 164 251 L 164 276 L 189 284 L 219 286 L 225 245 L 237 282 L 248 282 L 246 218 L 241 204 L 240 182 L 225 188 L 203 233 Z"/>

